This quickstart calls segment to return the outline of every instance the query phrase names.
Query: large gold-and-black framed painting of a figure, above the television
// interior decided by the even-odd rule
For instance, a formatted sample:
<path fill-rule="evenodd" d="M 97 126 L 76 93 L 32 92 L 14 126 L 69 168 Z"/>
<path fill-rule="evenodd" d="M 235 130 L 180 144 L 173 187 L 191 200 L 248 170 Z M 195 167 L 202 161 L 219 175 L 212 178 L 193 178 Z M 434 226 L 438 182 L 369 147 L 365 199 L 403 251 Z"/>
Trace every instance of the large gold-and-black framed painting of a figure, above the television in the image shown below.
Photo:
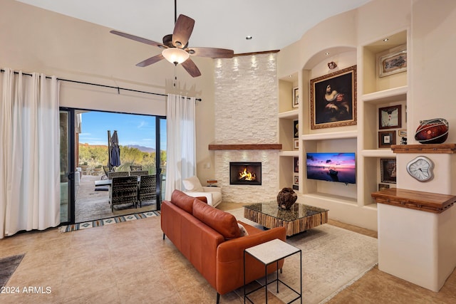
<path fill-rule="evenodd" d="M 356 125 L 356 65 L 311 79 L 311 130 Z"/>

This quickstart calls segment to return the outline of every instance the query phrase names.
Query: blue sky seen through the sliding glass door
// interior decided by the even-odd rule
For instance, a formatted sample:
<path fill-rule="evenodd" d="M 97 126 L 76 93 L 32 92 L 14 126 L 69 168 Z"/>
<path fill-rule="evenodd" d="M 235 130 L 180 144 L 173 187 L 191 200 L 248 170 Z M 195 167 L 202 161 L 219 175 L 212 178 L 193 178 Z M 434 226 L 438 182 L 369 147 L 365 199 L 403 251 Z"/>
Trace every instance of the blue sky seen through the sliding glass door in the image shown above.
<path fill-rule="evenodd" d="M 162 120 L 161 130 L 166 127 Z M 113 112 L 83 112 L 80 143 L 108 145 L 108 130 L 117 130 L 119 145 L 140 145 L 155 148 L 155 117 Z M 166 136 L 162 136 L 161 149 L 166 150 Z"/>

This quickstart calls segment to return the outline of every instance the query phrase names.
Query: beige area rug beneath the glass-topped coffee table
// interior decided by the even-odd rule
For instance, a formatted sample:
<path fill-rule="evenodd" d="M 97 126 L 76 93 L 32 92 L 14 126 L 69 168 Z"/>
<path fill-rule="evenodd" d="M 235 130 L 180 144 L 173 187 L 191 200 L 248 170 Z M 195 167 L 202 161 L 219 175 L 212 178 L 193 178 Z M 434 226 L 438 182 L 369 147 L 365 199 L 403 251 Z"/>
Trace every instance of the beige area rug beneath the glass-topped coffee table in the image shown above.
<path fill-rule="evenodd" d="M 244 218 L 243 208 L 228 212 L 239 221 L 259 227 Z M 326 303 L 371 270 L 378 263 L 377 241 L 328 224 L 286 239 L 302 251 L 303 303 Z M 286 258 L 279 278 L 299 290 L 299 254 Z M 269 285 L 268 290 L 276 294 L 273 285 Z M 294 293 L 281 285 L 276 297 L 287 303 L 294 298 Z"/>

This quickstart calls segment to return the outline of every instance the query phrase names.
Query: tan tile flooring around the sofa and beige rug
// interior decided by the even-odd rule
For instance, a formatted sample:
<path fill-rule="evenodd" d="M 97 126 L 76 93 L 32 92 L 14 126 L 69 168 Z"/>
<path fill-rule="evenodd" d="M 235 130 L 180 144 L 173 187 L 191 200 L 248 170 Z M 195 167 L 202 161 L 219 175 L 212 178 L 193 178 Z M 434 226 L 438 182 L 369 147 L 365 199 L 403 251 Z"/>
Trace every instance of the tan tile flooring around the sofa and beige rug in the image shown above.
<path fill-rule="evenodd" d="M 222 204 L 220 209 L 239 206 Z M 329 224 L 376 237 L 375 231 L 331 220 Z M 216 298 L 172 243 L 162 240 L 159 216 L 0 240 L 1 258 L 19 253 L 26 256 L 7 285 L 19 287 L 21 293 L 0 294 L 0 303 L 214 303 Z M 50 287 L 51 292 L 24 293 L 24 287 Z M 234 292 L 221 298 L 221 303 L 242 302 Z M 456 271 L 434 293 L 375 267 L 329 303 L 456 303 Z"/>

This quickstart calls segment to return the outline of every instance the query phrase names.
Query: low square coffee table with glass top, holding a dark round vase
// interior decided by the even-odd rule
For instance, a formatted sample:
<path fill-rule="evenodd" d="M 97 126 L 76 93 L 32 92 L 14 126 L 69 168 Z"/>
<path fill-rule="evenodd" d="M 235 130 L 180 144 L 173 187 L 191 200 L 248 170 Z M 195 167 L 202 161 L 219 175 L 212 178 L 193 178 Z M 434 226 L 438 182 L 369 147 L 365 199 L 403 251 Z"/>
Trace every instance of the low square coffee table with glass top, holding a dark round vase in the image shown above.
<path fill-rule="evenodd" d="M 286 236 L 294 236 L 328 222 L 328 210 L 295 203 L 289 210 L 280 209 L 276 201 L 244 206 L 244 217 L 266 228 L 283 226 Z"/>

